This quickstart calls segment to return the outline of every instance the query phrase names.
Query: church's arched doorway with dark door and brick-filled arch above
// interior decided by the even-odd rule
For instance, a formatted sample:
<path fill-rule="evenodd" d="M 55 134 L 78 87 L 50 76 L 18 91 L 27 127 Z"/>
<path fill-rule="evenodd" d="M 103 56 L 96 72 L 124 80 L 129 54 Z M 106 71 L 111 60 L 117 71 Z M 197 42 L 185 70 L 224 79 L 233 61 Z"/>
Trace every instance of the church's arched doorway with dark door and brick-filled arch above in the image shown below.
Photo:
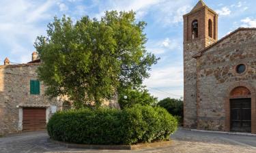
<path fill-rule="evenodd" d="M 238 86 L 229 97 L 230 131 L 251 133 L 251 91 Z"/>

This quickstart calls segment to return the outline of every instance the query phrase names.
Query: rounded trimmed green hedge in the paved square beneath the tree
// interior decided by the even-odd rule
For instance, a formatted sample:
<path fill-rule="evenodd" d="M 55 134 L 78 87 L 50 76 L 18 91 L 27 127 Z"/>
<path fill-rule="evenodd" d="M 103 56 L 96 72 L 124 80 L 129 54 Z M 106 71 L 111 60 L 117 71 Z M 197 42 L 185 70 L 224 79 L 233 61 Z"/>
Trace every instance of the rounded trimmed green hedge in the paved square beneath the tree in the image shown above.
<path fill-rule="evenodd" d="M 103 145 L 166 140 L 176 129 L 177 120 L 165 109 L 141 105 L 57 112 L 47 124 L 51 139 Z"/>

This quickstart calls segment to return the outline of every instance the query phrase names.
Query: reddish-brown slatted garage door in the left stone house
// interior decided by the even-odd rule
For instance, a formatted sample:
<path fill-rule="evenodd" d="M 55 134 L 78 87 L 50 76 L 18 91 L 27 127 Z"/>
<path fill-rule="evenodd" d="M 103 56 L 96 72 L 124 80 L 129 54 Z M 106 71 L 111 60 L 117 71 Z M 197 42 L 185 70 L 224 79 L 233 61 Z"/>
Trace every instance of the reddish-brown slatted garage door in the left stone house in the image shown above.
<path fill-rule="evenodd" d="M 23 131 L 43 131 L 46 129 L 45 108 L 23 108 Z"/>

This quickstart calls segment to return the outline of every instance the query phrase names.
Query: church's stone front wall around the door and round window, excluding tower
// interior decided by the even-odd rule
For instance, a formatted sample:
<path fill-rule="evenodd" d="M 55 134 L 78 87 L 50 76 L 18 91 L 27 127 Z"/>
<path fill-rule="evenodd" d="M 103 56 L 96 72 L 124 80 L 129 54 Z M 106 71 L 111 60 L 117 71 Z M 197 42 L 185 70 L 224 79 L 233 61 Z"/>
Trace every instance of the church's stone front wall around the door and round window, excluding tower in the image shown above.
<path fill-rule="evenodd" d="M 256 88 L 256 29 L 238 30 L 206 50 L 197 58 L 197 129 L 228 131 L 225 108 L 231 88 Z M 238 74 L 236 65 L 246 65 Z M 232 87 L 233 86 L 233 87 Z M 251 91 L 252 92 L 252 91 Z M 255 97 L 255 92 L 251 93 Z M 252 99 L 252 113 L 256 101 Z M 252 118 L 255 126 L 256 118 Z M 255 126 L 256 128 L 256 126 Z"/>

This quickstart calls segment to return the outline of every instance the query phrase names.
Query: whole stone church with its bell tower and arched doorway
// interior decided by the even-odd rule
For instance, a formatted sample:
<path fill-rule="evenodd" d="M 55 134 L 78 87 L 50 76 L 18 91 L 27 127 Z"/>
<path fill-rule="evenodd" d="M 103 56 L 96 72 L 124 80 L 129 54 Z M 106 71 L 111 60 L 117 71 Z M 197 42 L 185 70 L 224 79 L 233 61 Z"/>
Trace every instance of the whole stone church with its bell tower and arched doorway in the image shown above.
<path fill-rule="evenodd" d="M 184 127 L 256 133 L 256 28 L 218 39 L 203 1 L 184 18 Z"/>

